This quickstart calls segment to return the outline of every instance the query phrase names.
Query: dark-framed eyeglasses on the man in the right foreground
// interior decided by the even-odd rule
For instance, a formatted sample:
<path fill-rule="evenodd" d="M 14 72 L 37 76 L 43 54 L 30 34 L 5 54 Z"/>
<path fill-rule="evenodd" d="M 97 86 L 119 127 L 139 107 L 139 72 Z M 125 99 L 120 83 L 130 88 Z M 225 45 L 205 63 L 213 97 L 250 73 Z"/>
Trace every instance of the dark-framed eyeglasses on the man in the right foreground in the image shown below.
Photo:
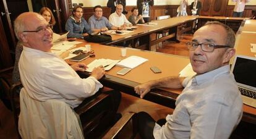
<path fill-rule="evenodd" d="M 195 43 L 194 41 L 187 42 L 187 48 L 189 50 L 195 50 L 199 45 L 202 51 L 205 51 L 205 52 L 213 52 L 213 50 L 217 48 L 231 48 L 230 46 L 227 46 L 227 45 L 216 45 L 213 43 Z"/>

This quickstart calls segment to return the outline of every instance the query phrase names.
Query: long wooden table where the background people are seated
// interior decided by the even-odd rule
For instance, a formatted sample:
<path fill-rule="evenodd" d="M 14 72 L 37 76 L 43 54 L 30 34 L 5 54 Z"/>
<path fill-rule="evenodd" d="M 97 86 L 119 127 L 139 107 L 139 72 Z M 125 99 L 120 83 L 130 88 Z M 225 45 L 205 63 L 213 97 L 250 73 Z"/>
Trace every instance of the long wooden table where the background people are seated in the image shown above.
<path fill-rule="evenodd" d="M 165 40 L 177 41 L 177 32 L 189 32 L 192 31 L 193 24 L 196 28 L 201 27 L 203 23 L 207 21 L 220 21 L 223 23 L 235 23 L 238 27 L 241 25 L 243 17 L 208 17 L 208 16 L 182 16 L 173 17 L 163 20 L 153 20 L 148 24 L 138 24 L 136 29 L 130 33 L 124 34 L 112 34 L 112 41 L 103 43 L 106 45 L 116 45 L 124 41 L 133 41 L 134 39 L 140 38 L 139 49 L 150 50 L 151 46 L 161 43 Z M 179 30 L 179 27 L 181 30 Z M 234 28 L 236 30 L 236 28 Z M 154 38 L 151 35 L 155 33 L 168 32 L 168 35 L 164 35 L 161 38 Z"/>

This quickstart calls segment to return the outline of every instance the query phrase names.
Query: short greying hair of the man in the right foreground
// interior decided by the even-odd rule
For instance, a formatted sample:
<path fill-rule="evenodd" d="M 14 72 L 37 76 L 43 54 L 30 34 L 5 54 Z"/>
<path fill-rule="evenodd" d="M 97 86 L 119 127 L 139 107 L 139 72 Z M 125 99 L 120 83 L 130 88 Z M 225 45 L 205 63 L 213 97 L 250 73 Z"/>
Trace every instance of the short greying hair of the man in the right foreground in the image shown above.
<path fill-rule="evenodd" d="M 223 38 L 226 40 L 225 45 L 230 46 L 231 48 L 234 48 L 234 44 L 236 41 L 236 35 L 235 35 L 234 31 L 232 30 L 232 28 L 228 27 L 228 25 L 225 25 L 224 23 L 217 22 L 217 21 L 207 22 L 203 26 L 206 26 L 206 25 L 220 25 L 221 27 L 223 27 L 224 30 L 226 31 L 226 38 Z"/>

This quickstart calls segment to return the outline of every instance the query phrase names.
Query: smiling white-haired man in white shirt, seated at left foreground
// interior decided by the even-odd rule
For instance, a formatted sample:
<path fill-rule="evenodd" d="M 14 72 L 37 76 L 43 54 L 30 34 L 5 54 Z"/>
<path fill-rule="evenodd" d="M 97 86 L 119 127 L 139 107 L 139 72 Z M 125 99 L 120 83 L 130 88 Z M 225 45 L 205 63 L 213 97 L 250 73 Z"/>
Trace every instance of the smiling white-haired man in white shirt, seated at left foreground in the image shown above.
<path fill-rule="evenodd" d="M 23 45 L 19 60 L 20 79 L 23 85 L 20 93 L 26 93 L 37 101 L 58 99 L 72 108 L 79 106 L 85 98 L 85 101 L 92 100 L 99 94 L 96 92 L 103 85 L 98 80 L 105 74 L 105 69 L 102 66 L 97 67 L 90 77 L 80 78 L 75 71 L 84 71 L 87 65 L 75 63 L 69 66 L 63 59 L 51 53 L 52 25 L 40 14 L 20 14 L 14 22 L 14 27 L 15 35 Z M 91 97 L 88 98 L 89 96 Z M 119 99 L 117 103 L 120 103 L 121 94 L 114 91 L 113 96 L 117 96 L 116 101 Z M 118 105 L 113 111 L 117 110 Z M 98 107 L 95 111 L 99 109 Z M 91 114 L 95 117 L 98 113 L 93 110 Z M 40 117 L 38 120 L 41 120 Z"/>

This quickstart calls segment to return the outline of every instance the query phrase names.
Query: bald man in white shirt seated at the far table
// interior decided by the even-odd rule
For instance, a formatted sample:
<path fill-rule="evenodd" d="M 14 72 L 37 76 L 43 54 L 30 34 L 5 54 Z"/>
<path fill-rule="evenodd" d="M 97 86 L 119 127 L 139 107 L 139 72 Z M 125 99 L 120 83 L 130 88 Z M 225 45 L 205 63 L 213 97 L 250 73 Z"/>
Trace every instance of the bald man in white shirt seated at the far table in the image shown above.
<path fill-rule="evenodd" d="M 123 10 L 124 10 L 124 8 L 123 8 L 122 4 L 117 4 L 116 12 L 109 15 L 109 22 L 116 27 L 121 27 L 121 28 L 131 27 L 132 23 L 130 23 L 126 19 L 126 15 L 122 14 Z M 118 28 L 118 29 L 120 29 L 120 28 Z"/>

